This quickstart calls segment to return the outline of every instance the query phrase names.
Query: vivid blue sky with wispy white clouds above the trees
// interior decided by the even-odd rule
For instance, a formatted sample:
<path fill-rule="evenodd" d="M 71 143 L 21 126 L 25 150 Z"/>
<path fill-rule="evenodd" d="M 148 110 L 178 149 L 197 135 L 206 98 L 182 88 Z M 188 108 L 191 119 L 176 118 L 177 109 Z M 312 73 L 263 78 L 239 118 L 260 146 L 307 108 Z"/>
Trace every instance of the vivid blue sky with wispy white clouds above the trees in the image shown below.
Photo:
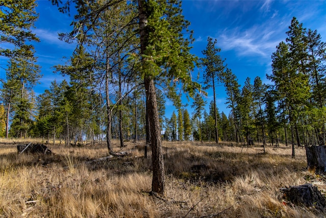
<path fill-rule="evenodd" d="M 35 23 L 35 33 L 41 40 L 35 43 L 38 64 L 43 75 L 40 84 L 35 87 L 36 94 L 43 93 L 50 83 L 62 77 L 53 74 L 53 65 L 64 64 L 75 48 L 58 39 L 58 33 L 69 32 L 72 17 L 62 14 L 50 1 L 37 1 L 39 20 Z M 183 15 L 191 22 L 196 41 L 192 53 L 202 57 L 207 37 L 218 41 L 220 55 L 226 59 L 228 67 L 238 78 L 242 86 L 247 77 L 261 77 L 264 83 L 266 74 L 271 72 L 271 54 L 276 46 L 286 38 L 286 31 L 295 16 L 307 29 L 317 30 L 322 41 L 326 41 L 326 1 L 183 1 Z M 66 58 L 64 58 L 66 57 Z M 2 65 L 4 60 L 2 60 Z M 5 72 L 1 69 L 1 78 Z M 196 69 L 193 76 L 196 77 Z M 200 78 L 201 79 L 201 78 Z M 216 96 L 220 112 L 228 114 L 225 89 L 222 84 L 216 86 Z M 208 92 L 207 103 L 213 100 Z M 189 105 L 192 102 L 188 103 Z M 174 110 L 167 101 L 166 116 L 171 117 Z M 189 108 L 191 112 L 191 109 Z M 207 111 L 208 112 L 208 111 Z"/>

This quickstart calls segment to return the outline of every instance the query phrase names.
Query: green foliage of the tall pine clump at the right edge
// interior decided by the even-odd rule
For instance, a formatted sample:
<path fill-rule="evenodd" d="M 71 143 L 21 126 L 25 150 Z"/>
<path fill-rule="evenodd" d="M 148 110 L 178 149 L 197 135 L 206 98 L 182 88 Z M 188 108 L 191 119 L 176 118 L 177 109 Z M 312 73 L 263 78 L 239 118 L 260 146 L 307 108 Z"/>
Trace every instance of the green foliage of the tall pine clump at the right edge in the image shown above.
<path fill-rule="evenodd" d="M 274 82 L 274 96 L 280 113 L 279 122 L 283 125 L 290 124 L 297 144 L 301 144 L 301 141 L 312 143 L 311 137 L 310 142 L 304 135 L 300 137 L 298 128 L 306 130 L 308 135 L 316 133 L 319 141 L 323 138 L 322 143 L 324 143 L 323 115 L 315 112 L 318 110 L 316 108 L 322 108 L 325 104 L 326 86 L 323 64 L 326 57 L 324 55 L 325 43 L 321 41 L 317 31 L 307 31 L 295 17 L 286 34 L 288 36 L 286 43 L 281 42 L 277 46 L 277 51 L 273 53 L 273 73 L 267 76 Z M 270 110 L 272 109 L 269 109 L 271 114 Z M 312 114 L 321 116 L 310 117 Z M 319 120 L 320 124 L 313 120 Z M 268 123 L 273 124 L 274 121 L 268 121 Z M 319 129 L 319 131 L 312 133 L 312 128 Z M 276 131 L 275 128 L 274 131 Z M 317 143 L 320 143 L 319 141 Z"/>

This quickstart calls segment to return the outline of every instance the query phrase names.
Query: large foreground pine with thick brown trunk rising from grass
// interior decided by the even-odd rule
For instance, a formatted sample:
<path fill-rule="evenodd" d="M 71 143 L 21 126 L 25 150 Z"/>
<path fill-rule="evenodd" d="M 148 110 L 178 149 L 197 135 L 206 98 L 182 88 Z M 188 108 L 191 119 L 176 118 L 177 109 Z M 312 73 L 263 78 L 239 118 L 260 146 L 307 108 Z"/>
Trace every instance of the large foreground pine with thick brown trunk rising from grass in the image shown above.
<path fill-rule="evenodd" d="M 52 3 L 59 5 L 61 1 L 53 0 Z M 100 17 L 98 15 L 101 12 L 110 12 L 108 9 L 118 7 L 119 4 L 125 4 L 130 7 L 125 11 L 130 12 L 129 14 L 131 15 L 135 11 L 138 12 L 138 16 L 132 16 L 128 22 L 124 23 L 124 26 L 119 31 L 116 31 L 116 28 L 112 28 L 110 29 L 111 31 L 105 32 L 105 36 L 108 39 L 111 35 L 123 35 L 125 33 L 123 30 L 129 27 L 134 28 L 133 33 L 138 33 L 140 51 L 134 52 L 134 48 L 138 46 L 133 46 L 132 51 L 126 52 L 125 55 L 126 57 L 130 57 L 129 61 L 134 61 L 135 66 L 139 70 L 138 76 L 144 81 L 146 90 L 146 116 L 148 117 L 147 123 L 150 124 L 146 126 L 149 126 L 150 129 L 147 133 L 150 132 L 152 146 L 152 191 L 164 194 L 165 171 L 161 151 L 155 82 L 160 82 L 167 87 L 170 93 L 175 90 L 176 84 L 180 84 L 181 88 L 191 97 L 194 95 L 195 89 L 200 88 L 198 83 L 192 81 L 191 70 L 194 68 L 196 58 L 190 53 L 191 47 L 189 47 L 189 44 L 192 41 L 192 34 L 184 34 L 184 32 L 189 32 L 187 29 L 189 22 L 181 14 L 181 1 L 139 0 L 131 4 L 123 1 L 109 1 L 101 7 L 98 7 L 93 1 L 73 0 L 66 2 L 59 9 L 66 12 L 71 3 L 74 3 L 77 7 L 78 14 L 75 18 L 78 22 L 73 23 L 74 30 L 69 34 L 70 36 L 75 36 L 79 33 L 83 34 L 83 36 L 87 36 L 87 34 L 91 35 L 91 29 L 94 25 L 89 25 L 89 23 L 97 23 L 96 19 Z M 121 13 L 115 14 L 117 20 L 122 18 L 120 16 Z M 80 23 L 85 25 L 80 26 Z M 81 31 L 80 29 L 83 30 Z M 185 36 L 189 37 L 185 38 Z M 126 38 L 123 35 L 123 38 L 125 39 L 125 44 L 128 44 L 131 39 L 134 42 L 133 37 Z M 87 41 L 87 38 L 84 37 L 79 39 L 81 42 L 84 42 L 84 40 Z M 108 45 L 106 44 L 106 48 L 109 47 Z M 106 65 L 106 73 L 108 69 L 110 67 Z M 110 110 L 108 109 L 108 111 Z M 110 141 L 108 141 L 109 143 Z"/>

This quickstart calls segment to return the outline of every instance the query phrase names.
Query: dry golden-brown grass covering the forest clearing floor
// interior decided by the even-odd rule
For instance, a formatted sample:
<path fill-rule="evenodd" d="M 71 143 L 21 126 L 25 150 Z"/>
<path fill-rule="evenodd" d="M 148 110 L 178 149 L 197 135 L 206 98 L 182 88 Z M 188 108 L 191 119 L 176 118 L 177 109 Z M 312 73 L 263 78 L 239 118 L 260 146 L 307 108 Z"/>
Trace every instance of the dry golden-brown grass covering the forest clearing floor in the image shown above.
<path fill-rule="evenodd" d="M 141 145 L 142 142 L 138 142 Z M 55 155 L 18 155 L 0 142 L 1 217 L 320 217 L 314 208 L 282 200 L 279 188 L 325 180 L 306 170 L 304 149 L 236 147 L 164 142 L 165 198 L 149 195 L 150 152 L 86 161 L 107 155 L 105 145 L 51 146 Z M 120 150 L 119 143 L 114 149 Z"/>

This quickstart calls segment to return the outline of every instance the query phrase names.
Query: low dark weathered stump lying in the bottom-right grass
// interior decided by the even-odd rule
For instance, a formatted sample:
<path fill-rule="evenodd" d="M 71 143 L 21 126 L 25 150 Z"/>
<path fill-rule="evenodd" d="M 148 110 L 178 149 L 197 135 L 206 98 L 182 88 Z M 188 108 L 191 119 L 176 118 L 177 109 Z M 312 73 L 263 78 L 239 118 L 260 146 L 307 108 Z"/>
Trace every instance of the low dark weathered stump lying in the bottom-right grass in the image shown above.
<path fill-rule="evenodd" d="M 283 198 L 298 206 L 325 209 L 326 200 L 316 186 L 312 184 L 304 184 L 300 186 L 291 186 L 290 188 L 282 188 Z"/>

